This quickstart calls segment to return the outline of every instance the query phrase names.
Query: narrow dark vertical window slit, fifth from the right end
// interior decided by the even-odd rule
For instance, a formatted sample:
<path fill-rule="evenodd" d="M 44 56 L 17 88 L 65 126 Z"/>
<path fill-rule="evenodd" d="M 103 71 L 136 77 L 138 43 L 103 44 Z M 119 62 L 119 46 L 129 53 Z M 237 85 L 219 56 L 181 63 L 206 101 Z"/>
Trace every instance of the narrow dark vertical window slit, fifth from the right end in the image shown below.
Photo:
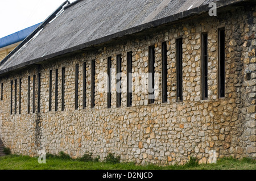
<path fill-rule="evenodd" d="M 148 52 L 148 103 L 155 102 L 155 46 L 149 47 Z"/>

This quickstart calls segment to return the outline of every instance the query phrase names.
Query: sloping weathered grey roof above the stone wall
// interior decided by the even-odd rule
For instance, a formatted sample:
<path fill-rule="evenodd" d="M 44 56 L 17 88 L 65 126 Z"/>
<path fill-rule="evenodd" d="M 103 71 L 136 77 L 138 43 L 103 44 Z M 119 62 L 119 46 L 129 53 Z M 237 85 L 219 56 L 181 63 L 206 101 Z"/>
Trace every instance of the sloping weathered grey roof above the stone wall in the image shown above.
<path fill-rule="evenodd" d="M 223 3 L 242 0 L 223 1 Z M 189 13 L 200 13 L 201 5 L 207 5 L 210 0 L 82 0 L 68 5 L 56 19 L 46 24 L 34 39 L 23 45 L 13 56 L 8 57 L 0 66 L 0 73 L 11 68 L 19 68 L 30 64 L 32 60 L 41 61 L 68 50 L 77 50 L 90 44 L 95 44 L 105 37 L 105 41 L 112 35 L 135 32 L 127 31 L 139 27 L 153 27 L 160 23 L 185 16 L 185 11 L 191 5 Z M 199 7 L 196 9 L 196 7 Z M 195 9 L 195 11 L 193 11 Z M 206 9 L 206 7 L 205 7 Z M 177 13 L 182 12 L 179 16 Z M 188 13 L 188 15 L 189 15 Z M 168 18 L 169 19 L 164 19 Z M 175 17 L 175 18 L 174 18 Z M 163 20 L 162 20 L 163 19 Z M 145 24 L 145 25 L 144 25 Z M 102 40 L 103 41 L 103 40 Z M 87 44 L 86 44 L 87 43 Z"/>

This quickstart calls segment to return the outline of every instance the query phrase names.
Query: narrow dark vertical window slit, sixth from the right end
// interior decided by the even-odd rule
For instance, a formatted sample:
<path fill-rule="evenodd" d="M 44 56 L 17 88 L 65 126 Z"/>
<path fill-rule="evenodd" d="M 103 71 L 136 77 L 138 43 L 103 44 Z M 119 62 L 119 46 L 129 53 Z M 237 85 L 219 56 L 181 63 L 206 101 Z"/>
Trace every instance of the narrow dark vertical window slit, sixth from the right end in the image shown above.
<path fill-rule="evenodd" d="M 127 107 L 131 107 L 131 69 L 132 67 L 132 62 L 133 62 L 133 52 L 128 52 L 127 53 Z"/>

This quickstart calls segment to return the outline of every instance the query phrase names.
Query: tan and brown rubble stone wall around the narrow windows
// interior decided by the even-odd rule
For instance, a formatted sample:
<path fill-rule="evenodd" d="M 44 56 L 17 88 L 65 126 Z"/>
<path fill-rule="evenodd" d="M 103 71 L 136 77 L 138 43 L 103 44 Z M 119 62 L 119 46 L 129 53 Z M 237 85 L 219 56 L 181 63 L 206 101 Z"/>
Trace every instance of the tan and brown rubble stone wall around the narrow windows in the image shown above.
<path fill-rule="evenodd" d="M 245 11 L 245 8 L 247 11 Z M 217 12 L 218 13 L 218 12 Z M 197 157 L 200 163 L 217 158 L 256 157 L 255 150 L 255 7 L 239 7 L 219 12 L 217 17 L 201 15 L 141 32 L 86 50 L 31 66 L 1 78 L 0 136 L 13 153 L 35 156 L 39 150 L 72 157 L 92 153 L 103 159 L 108 153 L 121 155 L 123 162 L 169 165 L 185 163 Z M 226 92 L 218 99 L 218 28 L 225 27 Z M 201 33 L 208 32 L 208 100 L 201 100 Z M 176 102 L 176 39 L 183 37 L 183 102 Z M 162 42 L 167 41 L 168 102 L 162 103 Z M 155 45 L 155 73 L 159 75 L 159 95 L 148 104 L 147 91 L 135 91 L 144 85 L 148 73 L 148 47 Z M 126 74 L 127 52 L 133 52 L 132 106 L 126 107 L 122 92 L 121 108 L 107 108 L 107 93 L 100 91 L 112 57 L 122 54 L 122 72 Z M 91 60 L 96 60 L 96 95 L 90 108 Z M 86 108 L 82 109 L 83 64 L 86 62 Z M 75 110 L 75 65 L 79 64 L 79 108 Z M 61 111 L 61 68 L 65 68 L 65 110 Z M 59 69 L 58 110 L 55 111 L 55 70 Z M 246 74 L 250 69 L 251 73 Z M 49 70 L 52 71 L 52 111 L 49 111 Z M 41 74 L 41 103 L 38 112 L 36 81 L 35 113 L 32 113 L 32 79 Z M 159 74 L 158 74 L 159 73 Z M 30 113 L 27 113 L 28 76 Z M 114 76 L 113 76 L 114 77 Z M 10 115 L 11 80 L 22 78 L 21 114 Z M 138 81 L 139 80 L 139 81 Z M 147 82 L 146 82 L 147 83 Z M 19 92 L 19 81 L 18 81 Z M 115 87 L 115 80 L 112 80 Z M 147 87 L 147 86 L 146 86 Z M 122 76 L 122 91 L 126 77 Z M 19 94 L 17 94 L 19 96 Z M 13 87 L 14 108 L 14 87 Z M 17 98 L 19 100 L 19 97 Z M 19 107 L 19 102 L 17 103 Z"/>

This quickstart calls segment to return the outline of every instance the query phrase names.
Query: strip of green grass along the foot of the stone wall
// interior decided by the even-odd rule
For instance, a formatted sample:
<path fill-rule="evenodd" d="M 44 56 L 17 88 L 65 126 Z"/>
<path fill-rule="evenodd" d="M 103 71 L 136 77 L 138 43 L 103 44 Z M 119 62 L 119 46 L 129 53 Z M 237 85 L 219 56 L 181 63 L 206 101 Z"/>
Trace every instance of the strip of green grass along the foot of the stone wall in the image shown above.
<path fill-rule="evenodd" d="M 46 164 L 39 164 L 38 158 L 22 155 L 7 155 L 0 157 L 0 169 L 4 170 L 256 170 L 256 161 L 249 158 L 241 160 L 234 158 L 222 158 L 216 164 L 199 165 L 195 160 L 191 160 L 183 166 L 137 166 L 134 163 L 108 163 L 89 161 L 84 162 L 79 159 L 48 157 Z"/>

